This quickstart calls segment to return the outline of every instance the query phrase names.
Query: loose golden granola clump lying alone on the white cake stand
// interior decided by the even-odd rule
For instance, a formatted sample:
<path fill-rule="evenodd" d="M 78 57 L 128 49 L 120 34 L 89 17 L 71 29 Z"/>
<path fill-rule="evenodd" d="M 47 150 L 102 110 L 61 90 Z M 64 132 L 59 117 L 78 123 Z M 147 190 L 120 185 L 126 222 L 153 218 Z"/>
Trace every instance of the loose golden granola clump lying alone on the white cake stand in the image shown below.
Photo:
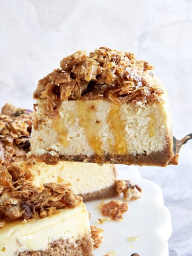
<path fill-rule="evenodd" d="M 110 216 L 112 220 L 122 220 L 122 214 L 128 210 L 127 203 L 110 201 L 101 205 L 101 212 L 104 216 Z"/>

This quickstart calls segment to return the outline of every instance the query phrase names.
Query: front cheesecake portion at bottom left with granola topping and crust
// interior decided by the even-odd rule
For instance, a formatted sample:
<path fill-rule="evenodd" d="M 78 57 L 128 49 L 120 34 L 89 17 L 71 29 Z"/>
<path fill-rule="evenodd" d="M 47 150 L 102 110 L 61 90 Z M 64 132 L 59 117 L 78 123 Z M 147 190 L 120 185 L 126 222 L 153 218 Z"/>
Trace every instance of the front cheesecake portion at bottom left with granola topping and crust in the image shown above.
<path fill-rule="evenodd" d="M 92 256 L 82 199 L 57 183 L 37 188 L 26 174 L 15 164 L 0 168 L 0 255 Z"/>

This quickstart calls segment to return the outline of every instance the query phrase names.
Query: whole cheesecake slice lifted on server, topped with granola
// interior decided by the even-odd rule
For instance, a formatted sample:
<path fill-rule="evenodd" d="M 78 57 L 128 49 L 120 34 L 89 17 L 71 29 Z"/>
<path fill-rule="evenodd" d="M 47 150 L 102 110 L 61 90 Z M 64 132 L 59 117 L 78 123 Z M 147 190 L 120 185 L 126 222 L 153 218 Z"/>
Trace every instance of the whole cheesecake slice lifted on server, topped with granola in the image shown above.
<path fill-rule="evenodd" d="M 167 91 L 153 67 L 100 47 L 64 58 L 39 81 L 30 155 L 166 166 L 173 158 Z"/>

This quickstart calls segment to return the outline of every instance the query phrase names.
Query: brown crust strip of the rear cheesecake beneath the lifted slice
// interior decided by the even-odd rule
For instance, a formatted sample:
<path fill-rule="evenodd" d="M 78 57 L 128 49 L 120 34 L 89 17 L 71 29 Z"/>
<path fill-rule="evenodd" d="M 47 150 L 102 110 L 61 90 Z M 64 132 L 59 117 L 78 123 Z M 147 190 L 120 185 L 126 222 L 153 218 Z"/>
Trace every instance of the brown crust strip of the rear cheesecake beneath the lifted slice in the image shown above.
<path fill-rule="evenodd" d="M 106 188 L 106 189 L 100 189 L 98 191 L 95 191 L 93 193 L 86 193 L 82 196 L 83 202 L 89 202 L 93 200 L 99 200 L 102 198 L 108 198 L 108 197 L 114 197 L 117 196 L 117 183 L 115 182 L 112 186 Z"/>

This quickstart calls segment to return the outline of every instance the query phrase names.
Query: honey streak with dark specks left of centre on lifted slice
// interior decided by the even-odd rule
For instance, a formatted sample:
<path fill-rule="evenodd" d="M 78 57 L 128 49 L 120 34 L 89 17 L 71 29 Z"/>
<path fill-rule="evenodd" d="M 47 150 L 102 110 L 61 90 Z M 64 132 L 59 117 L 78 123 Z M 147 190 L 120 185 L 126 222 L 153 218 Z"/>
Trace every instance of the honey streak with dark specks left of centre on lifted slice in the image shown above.
<path fill-rule="evenodd" d="M 77 101 L 79 126 L 84 128 L 86 139 L 94 153 L 98 156 L 102 156 L 102 141 L 100 141 L 99 135 L 101 125 L 96 118 L 96 107 L 93 101 Z"/>

